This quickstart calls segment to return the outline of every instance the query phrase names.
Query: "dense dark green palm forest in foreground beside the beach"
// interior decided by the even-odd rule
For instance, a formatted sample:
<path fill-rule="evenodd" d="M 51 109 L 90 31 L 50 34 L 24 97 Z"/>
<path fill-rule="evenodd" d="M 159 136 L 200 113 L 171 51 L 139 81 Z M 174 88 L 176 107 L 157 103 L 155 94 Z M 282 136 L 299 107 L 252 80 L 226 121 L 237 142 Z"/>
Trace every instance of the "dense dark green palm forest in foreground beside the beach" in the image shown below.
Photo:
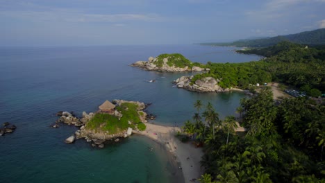
<path fill-rule="evenodd" d="M 235 118 L 219 120 L 210 104 L 203 120 L 198 112 L 185 123 L 184 132 L 203 145 L 200 182 L 325 182 L 325 105 L 308 98 L 276 105 L 265 88 L 244 98 L 238 112 L 247 132 L 234 132 Z"/>

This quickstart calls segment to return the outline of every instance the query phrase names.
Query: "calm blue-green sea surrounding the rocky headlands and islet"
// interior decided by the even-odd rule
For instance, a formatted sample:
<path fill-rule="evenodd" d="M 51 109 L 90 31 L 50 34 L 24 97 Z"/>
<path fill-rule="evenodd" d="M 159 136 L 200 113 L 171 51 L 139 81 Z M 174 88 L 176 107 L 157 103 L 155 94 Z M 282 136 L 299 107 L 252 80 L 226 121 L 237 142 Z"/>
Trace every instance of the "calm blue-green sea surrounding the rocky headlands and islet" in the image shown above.
<path fill-rule="evenodd" d="M 172 87 L 191 73 L 143 71 L 128 64 L 160 53 L 182 53 L 192 62 L 248 62 L 257 55 L 231 47 L 199 45 L 78 46 L 0 48 L 0 125 L 17 125 L 0 137 L 0 182 L 176 182 L 162 146 L 133 135 L 103 149 L 78 140 L 68 125 L 49 128 L 56 112 L 93 112 L 103 101 L 152 103 L 155 123 L 182 125 L 197 99 L 215 105 L 221 118 L 235 114 L 244 94 L 199 94 Z M 150 83 L 147 80 L 156 79 Z M 149 148 L 153 147 L 153 151 Z"/>

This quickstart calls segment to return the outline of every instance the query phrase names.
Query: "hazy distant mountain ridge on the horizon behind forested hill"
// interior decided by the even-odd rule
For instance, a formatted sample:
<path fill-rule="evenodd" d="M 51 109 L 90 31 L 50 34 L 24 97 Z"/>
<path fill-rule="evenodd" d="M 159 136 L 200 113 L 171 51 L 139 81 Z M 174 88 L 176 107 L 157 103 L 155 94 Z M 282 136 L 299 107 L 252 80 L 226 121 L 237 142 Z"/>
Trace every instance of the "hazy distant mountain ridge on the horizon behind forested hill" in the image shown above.
<path fill-rule="evenodd" d="M 276 37 L 267 37 L 263 39 L 238 40 L 228 43 L 201 43 L 201 45 L 215 46 L 248 46 L 248 47 L 267 47 L 278 44 L 279 42 L 288 41 L 306 45 L 325 45 L 325 28 L 306 31 L 291 35 L 278 35 Z"/>

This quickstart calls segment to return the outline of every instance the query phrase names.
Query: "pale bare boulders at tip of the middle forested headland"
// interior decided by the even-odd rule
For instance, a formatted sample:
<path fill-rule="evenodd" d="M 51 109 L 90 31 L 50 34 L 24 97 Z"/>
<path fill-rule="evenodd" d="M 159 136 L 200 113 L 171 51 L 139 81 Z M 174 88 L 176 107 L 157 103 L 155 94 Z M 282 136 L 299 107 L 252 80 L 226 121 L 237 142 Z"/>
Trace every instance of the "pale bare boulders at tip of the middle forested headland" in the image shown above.
<path fill-rule="evenodd" d="M 229 89 L 223 89 L 218 85 L 219 80 L 206 77 L 199 80 L 192 81 L 194 76 L 182 76 L 174 80 L 178 88 L 188 89 L 195 92 L 228 92 Z M 193 83 L 194 82 L 194 83 Z"/>

